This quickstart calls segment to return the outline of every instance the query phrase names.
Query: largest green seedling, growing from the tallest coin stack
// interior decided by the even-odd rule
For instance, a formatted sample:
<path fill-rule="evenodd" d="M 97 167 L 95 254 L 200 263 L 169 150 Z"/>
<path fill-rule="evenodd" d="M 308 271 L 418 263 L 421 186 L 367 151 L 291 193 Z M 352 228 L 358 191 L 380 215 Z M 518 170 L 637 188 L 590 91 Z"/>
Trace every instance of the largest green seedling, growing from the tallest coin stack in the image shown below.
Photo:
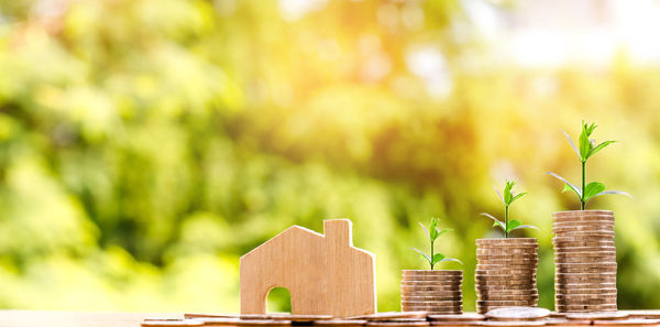
<path fill-rule="evenodd" d="M 580 163 L 582 164 L 582 187 L 569 183 L 569 181 L 566 181 L 564 177 L 562 177 L 556 173 L 548 172 L 549 175 L 552 175 L 556 178 L 558 178 L 559 181 L 564 183 L 564 188 L 562 189 L 562 192 L 572 190 L 578 195 L 578 197 L 580 198 L 580 204 L 581 204 L 582 210 L 584 210 L 584 207 L 586 206 L 586 203 L 590 199 L 592 199 L 596 196 L 600 196 L 600 195 L 623 194 L 628 197 L 631 197 L 629 194 L 627 194 L 623 190 L 614 190 L 614 189 L 605 190 L 606 189 L 605 184 L 603 184 L 601 182 L 591 182 L 585 185 L 586 161 L 590 157 L 592 157 L 594 154 L 596 154 L 598 151 L 605 149 L 605 146 L 616 142 L 616 141 L 605 141 L 605 142 L 602 142 L 601 144 L 596 145 L 596 141 L 593 139 L 590 139 L 591 134 L 594 132 L 595 129 L 596 129 L 595 123 L 588 124 L 588 123 L 585 123 L 584 121 L 582 121 L 582 133 L 580 133 L 580 140 L 579 140 L 580 150 L 578 149 L 578 146 L 575 146 L 575 143 L 573 142 L 571 137 L 569 137 L 569 134 L 565 131 L 563 131 L 564 135 L 569 140 L 569 143 L 571 144 L 571 148 L 573 148 L 573 151 L 575 151 L 575 154 L 578 154 L 578 159 L 580 160 Z"/>

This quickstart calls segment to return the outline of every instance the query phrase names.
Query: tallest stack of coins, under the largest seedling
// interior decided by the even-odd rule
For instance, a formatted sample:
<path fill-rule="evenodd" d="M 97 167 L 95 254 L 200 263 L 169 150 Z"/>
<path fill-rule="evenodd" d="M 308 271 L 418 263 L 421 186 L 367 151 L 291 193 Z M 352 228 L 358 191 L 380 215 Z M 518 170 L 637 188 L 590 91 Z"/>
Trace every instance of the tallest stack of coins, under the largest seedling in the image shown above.
<path fill-rule="evenodd" d="M 552 218 L 556 310 L 616 310 L 614 214 L 560 211 Z"/>

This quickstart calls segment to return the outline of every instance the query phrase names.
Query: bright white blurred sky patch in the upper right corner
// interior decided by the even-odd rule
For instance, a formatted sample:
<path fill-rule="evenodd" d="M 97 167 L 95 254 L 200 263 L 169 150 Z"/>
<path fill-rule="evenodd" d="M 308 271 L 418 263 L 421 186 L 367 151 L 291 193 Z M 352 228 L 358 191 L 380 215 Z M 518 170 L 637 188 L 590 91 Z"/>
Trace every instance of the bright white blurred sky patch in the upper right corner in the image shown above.
<path fill-rule="evenodd" d="M 492 54 L 505 62 L 603 66 L 623 50 L 634 61 L 660 64 L 658 0 L 526 0 L 510 10 L 466 0 L 463 7 Z"/>

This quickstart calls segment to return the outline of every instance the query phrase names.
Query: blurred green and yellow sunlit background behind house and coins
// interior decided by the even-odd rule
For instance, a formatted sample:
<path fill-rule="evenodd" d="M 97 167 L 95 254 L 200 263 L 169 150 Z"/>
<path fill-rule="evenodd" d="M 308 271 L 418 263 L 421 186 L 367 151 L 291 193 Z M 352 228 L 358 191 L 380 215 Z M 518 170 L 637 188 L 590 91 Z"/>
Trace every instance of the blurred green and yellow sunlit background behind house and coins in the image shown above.
<path fill-rule="evenodd" d="M 582 119 L 620 141 L 587 179 L 635 196 L 588 204 L 619 307 L 660 307 L 659 29 L 657 0 L 2 1 L 0 307 L 237 312 L 241 254 L 346 217 L 398 310 L 440 217 L 471 310 L 515 178 L 552 308 L 551 214 L 579 201 L 544 173 L 579 179 Z"/>

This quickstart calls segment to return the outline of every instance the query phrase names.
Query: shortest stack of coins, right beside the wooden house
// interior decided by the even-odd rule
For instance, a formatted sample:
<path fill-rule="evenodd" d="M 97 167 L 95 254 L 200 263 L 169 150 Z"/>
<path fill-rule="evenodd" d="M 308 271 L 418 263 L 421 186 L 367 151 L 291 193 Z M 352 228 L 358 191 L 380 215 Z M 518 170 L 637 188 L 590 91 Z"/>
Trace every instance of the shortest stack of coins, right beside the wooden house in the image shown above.
<path fill-rule="evenodd" d="M 463 313 L 462 270 L 404 270 L 402 310 Z"/>

